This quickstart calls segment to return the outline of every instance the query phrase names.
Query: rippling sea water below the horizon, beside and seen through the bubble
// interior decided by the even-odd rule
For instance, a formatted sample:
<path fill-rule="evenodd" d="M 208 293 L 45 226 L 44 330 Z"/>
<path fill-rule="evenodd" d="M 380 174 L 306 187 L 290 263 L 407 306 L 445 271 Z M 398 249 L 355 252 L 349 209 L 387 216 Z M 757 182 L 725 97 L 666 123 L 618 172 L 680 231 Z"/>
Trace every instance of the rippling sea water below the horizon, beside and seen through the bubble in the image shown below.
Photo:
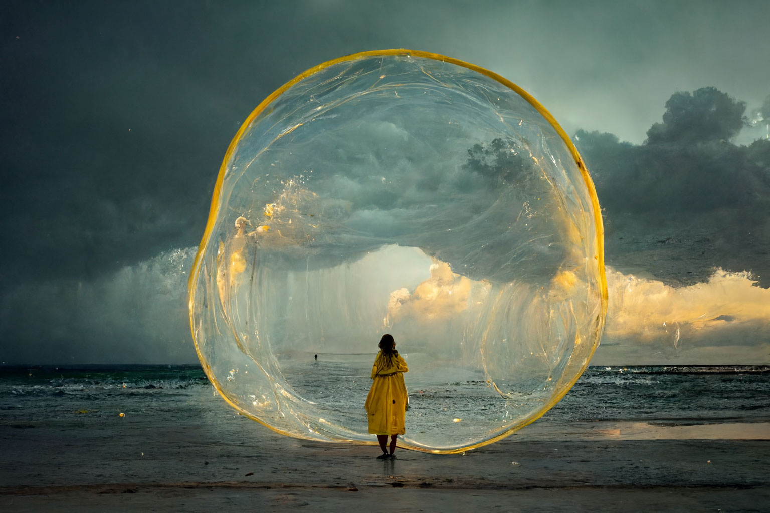
<path fill-rule="evenodd" d="M 330 401 L 331 410 L 361 411 L 363 425 L 371 360 L 373 355 L 319 355 L 318 361 L 298 362 L 283 371 L 296 391 L 314 401 Z M 441 411 L 449 405 L 453 409 L 447 416 L 467 421 L 504 415 L 493 404 L 494 389 L 474 378 L 448 378 L 439 385 L 431 378 L 429 385 L 420 376 L 407 374 L 407 435 L 422 428 L 428 410 Z M 169 401 L 199 401 L 206 388 L 213 393 L 197 365 L 3 366 L 0 411 L 4 421 L 12 422 L 15 411 L 29 411 L 31 406 L 43 415 L 56 415 L 92 408 L 84 405 L 102 401 L 162 414 Z M 84 415 L 114 415 L 112 411 L 82 411 Z M 663 425 L 767 422 L 770 366 L 590 367 L 544 419 L 552 424 L 592 420 Z"/>

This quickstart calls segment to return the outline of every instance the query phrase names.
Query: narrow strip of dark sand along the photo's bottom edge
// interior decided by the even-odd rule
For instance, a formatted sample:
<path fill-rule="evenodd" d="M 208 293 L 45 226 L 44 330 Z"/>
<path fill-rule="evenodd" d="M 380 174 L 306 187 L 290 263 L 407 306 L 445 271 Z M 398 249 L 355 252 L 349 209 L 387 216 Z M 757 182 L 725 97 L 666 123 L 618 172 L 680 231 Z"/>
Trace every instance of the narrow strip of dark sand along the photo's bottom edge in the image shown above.
<path fill-rule="evenodd" d="M 5 511 L 766 511 L 762 490 L 732 488 L 152 488 L 0 497 Z M 6 509 L 7 508 L 7 509 Z"/>

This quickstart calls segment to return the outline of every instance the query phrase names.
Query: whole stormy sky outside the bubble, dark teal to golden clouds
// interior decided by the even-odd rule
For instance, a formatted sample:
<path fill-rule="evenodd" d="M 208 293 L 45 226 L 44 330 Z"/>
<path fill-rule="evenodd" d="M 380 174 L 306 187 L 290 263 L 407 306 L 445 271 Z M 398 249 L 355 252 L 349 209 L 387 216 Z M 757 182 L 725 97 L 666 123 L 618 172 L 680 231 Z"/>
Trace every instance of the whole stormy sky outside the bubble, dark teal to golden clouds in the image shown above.
<path fill-rule="evenodd" d="M 243 119 L 417 48 L 574 135 L 607 231 L 595 362 L 770 363 L 768 27 L 762 1 L 3 2 L 0 361 L 195 361 L 186 273 Z"/>

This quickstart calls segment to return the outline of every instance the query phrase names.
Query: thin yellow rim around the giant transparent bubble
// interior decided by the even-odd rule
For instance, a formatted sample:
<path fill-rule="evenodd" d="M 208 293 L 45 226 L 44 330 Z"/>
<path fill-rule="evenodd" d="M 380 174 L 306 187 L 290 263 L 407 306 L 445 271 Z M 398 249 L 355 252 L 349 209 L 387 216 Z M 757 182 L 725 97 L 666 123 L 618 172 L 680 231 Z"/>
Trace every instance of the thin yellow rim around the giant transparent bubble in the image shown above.
<path fill-rule="evenodd" d="M 256 108 L 251 112 L 251 114 L 249 114 L 249 117 L 246 118 L 246 121 L 243 122 L 243 125 L 241 125 L 241 127 L 239 128 L 235 137 L 233 137 L 233 141 L 231 141 L 230 145 L 227 147 L 227 152 L 225 153 L 225 158 L 223 158 L 222 165 L 219 166 L 219 175 L 216 177 L 216 185 L 214 185 L 214 193 L 211 199 L 211 208 L 209 208 L 209 220 L 206 222 L 206 231 L 203 232 L 203 238 L 198 247 L 198 252 L 196 253 L 195 261 L 192 263 L 192 269 L 190 270 L 190 275 L 187 281 L 188 308 L 189 308 L 189 316 L 190 316 L 190 329 L 192 330 L 192 341 L 195 345 L 198 359 L 203 364 L 203 371 L 206 372 L 206 375 L 208 376 L 209 381 L 212 382 L 212 384 L 214 385 L 214 388 L 216 388 L 216 391 L 219 392 L 219 395 L 221 395 L 222 398 L 230 406 L 232 406 L 237 411 L 239 411 L 241 415 L 245 415 L 246 417 L 259 422 L 259 424 L 262 424 L 267 428 L 270 428 L 273 431 L 280 433 L 281 435 L 290 436 L 292 438 L 296 438 L 295 435 L 266 424 L 264 421 L 261 421 L 259 418 L 256 418 L 254 415 L 252 415 L 248 411 L 243 410 L 243 408 L 240 408 L 238 405 L 233 403 L 233 401 L 230 401 L 229 398 L 227 398 L 227 396 L 223 393 L 222 388 L 219 385 L 219 381 L 213 375 L 213 372 L 211 371 L 211 368 L 208 365 L 208 362 L 203 358 L 203 355 L 200 354 L 198 343 L 195 338 L 195 324 L 193 319 L 192 306 L 195 301 L 196 277 L 198 276 L 200 262 L 203 257 L 203 250 L 204 248 L 206 248 L 206 245 L 209 242 L 209 237 L 211 236 L 211 232 L 213 232 L 214 224 L 216 222 L 216 214 L 219 211 L 219 196 L 221 195 L 221 192 L 222 192 L 222 183 L 224 180 L 227 163 L 229 162 L 230 156 L 233 155 L 233 151 L 235 150 L 236 145 L 238 145 L 240 138 L 249 128 L 249 125 L 251 125 L 254 119 L 259 114 L 261 114 L 268 105 L 273 103 L 273 101 L 275 101 L 276 98 L 278 98 L 280 95 L 286 92 L 287 89 L 291 88 L 297 82 L 300 82 L 301 80 L 309 77 L 310 75 L 314 75 L 317 72 L 320 72 L 323 69 L 328 68 L 330 66 L 339 64 L 340 62 L 355 61 L 359 58 L 364 58 L 364 57 L 385 57 L 389 55 L 403 55 L 405 57 L 430 58 L 430 59 L 433 59 L 434 61 L 449 62 L 450 64 L 458 65 L 463 68 L 468 68 L 473 70 L 474 72 L 480 73 L 481 75 L 485 75 L 489 78 L 492 78 L 497 82 L 500 82 L 500 84 L 505 85 L 507 88 L 511 88 L 514 92 L 516 92 L 522 98 L 527 100 L 527 102 L 530 105 L 532 105 L 535 108 L 535 110 L 537 110 L 537 112 L 539 112 L 547 120 L 547 122 L 551 124 L 552 127 L 554 127 L 554 130 L 556 130 L 556 133 L 559 135 L 559 137 L 561 137 L 562 141 L 564 141 L 564 144 L 567 145 L 567 148 L 569 148 L 572 158 L 574 158 L 575 164 L 577 164 L 577 168 L 580 169 L 584 184 L 586 188 L 588 188 L 588 195 L 591 198 L 591 207 L 594 210 L 594 225 L 596 227 L 596 255 L 594 255 L 594 258 L 598 261 L 599 278 L 601 281 L 600 283 L 601 318 L 600 318 L 600 325 L 598 325 L 596 328 L 600 331 L 600 333 L 604 329 L 604 316 L 606 315 L 606 312 L 607 312 L 608 291 L 607 291 L 607 277 L 604 274 L 604 225 L 601 222 L 601 210 L 599 207 L 599 200 L 596 196 L 596 188 L 594 187 L 594 182 L 591 180 L 591 176 L 588 175 L 588 169 L 585 167 L 583 158 L 581 158 L 580 154 L 577 152 L 577 148 L 575 148 L 575 145 L 572 143 L 571 138 L 567 135 L 567 132 L 564 132 L 564 129 L 561 128 L 561 125 L 559 125 L 556 119 L 554 119 L 554 116 L 551 115 L 551 112 L 548 112 L 547 109 L 534 98 L 534 96 L 530 95 L 528 92 L 524 91 L 524 89 L 514 84 L 507 78 L 497 75 L 497 73 L 490 72 L 486 68 L 481 68 L 480 66 L 470 64 L 470 62 L 461 61 L 460 59 L 457 59 L 457 58 L 447 57 L 446 55 L 440 55 L 432 52 L 421 52 L 420 50 L 407 50 L 405 48 L 390 48 L 388 50 L 370 50 L 368 52 L 355 53 L 351 55 L 346 55 L 344 57 L 335 58 L 335 59 L 332 59 L 331 61 L 323 62 L 320 65 L 313 66 L 313 68 L 307 69 L 306 71 L 300 73 L 300 75 L 296 75 L 296 77 L 292 78 L 289 82 L 286 82 L 286 84 L 282 85 L 280 88 L 277 88 L 272 95 L 269 95 L 259 105 L 256 106 Z M 506 438 L 507 436 L 511 435 L 511 433 L 513 433 L 514 431 L 518 431 L 519 429 L 524 428 L 527 425 L 530 425 L 532 422 L 536 421 L 538 418 L 541 418 L 543 415 L 545 415 L 546 411 L 553 408 L 554 405 L 556 405 L 558 401 L 561 401 L 561 398 L 563 398 L 564 395 L 566 395 L 567 392 L 570 391 L 570 389 L 575 384 L 577 379 L 580 378 L 580 376 L 583 374 L 585 369 L 588 368 L 588 363 L 591 361 L 591 356 L 594 354 L 594 350 L 596 349 L 597 345 L 598 345 L 598 338 L 597 338 L 597 341 L 594 343 L 593 347 L 591 348 L 591 354 L 589 355 L 589 358 L 581 368 L 581 371 L 578 372 L 573 379 L 571 379 L 571 382 L 567 385 L 566 388 L 564 388 L 564 391 L 561 394 L 554 396 L 554 398 L 551 398 L 551 401 L 548 401 L 547 405 L 545 405 L 544 408 L 541 409 L 541 411 L 538 411 L 537 414 L 535 414 L 532 418 L 528 419 L 526 423 L 521 425 L 515 425 L 511 429 L 504 431 L 504 433 L 497 435 L 494 438 L 489 438 L 484 441 L 480 441 L 477 444 L 468 445 L 463 448 L 428 449 L 428 448 L 420 448 L 420 447 L 414 447 L 414 446 L 410 446 L 407 448 L 410 450 L 430 452 L 430 453 L 442 454 L 442 455 L 457 454 L 460 452 L 470 451 L 471 449 L 479 448 L 484 445 L 494 443 L 495 441 L 498 441 L 502 438 Z M 317 440 L 317 438 L 312 438 L 312 439 Z M 366 443 L 369 443 L 370 445 L 376 445 L 377 442 L 372 441 L 372 442 L 366 442 Z"/>

